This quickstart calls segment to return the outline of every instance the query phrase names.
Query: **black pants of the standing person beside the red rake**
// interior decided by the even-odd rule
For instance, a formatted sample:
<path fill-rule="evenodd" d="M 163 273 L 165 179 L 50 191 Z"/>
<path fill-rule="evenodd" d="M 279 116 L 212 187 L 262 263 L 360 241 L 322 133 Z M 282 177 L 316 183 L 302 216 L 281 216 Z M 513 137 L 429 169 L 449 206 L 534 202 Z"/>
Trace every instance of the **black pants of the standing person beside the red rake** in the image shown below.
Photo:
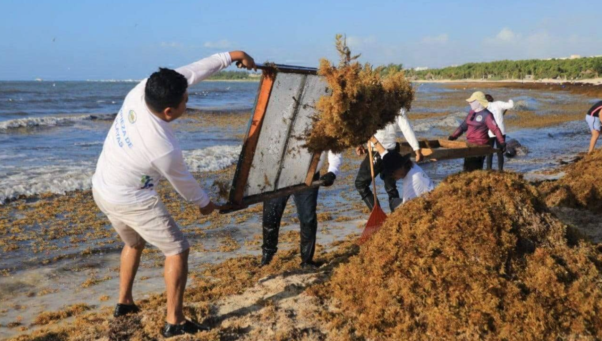
<path fill-rule="evenodd" d="M 389 150 L 389 152 L 399 152 L 397 149 Z M 370 156 L 366 155 L 362 164 L 359 165 L 358 175 L 355 177 L 355 188 L 358 189 L 359 195 L 362 200 L 368 206 L 368 209 L 374 208 L 374 195 L 370 190 L 372 185 L 372 176 L 370 174 Z M 380 159 L 379 153 L 376 153 L 376 162 L 374 163 L 374 176 L 377 176 L 382 171 L 382 159 Z M 385 182 L 385 191 L 389 195 L 389 208 L 393 212 L 393 200 L 399 198 L 399 191 L 397 191 L 397 183 L 393 177 L 386 177 L 382 179 Z"/>

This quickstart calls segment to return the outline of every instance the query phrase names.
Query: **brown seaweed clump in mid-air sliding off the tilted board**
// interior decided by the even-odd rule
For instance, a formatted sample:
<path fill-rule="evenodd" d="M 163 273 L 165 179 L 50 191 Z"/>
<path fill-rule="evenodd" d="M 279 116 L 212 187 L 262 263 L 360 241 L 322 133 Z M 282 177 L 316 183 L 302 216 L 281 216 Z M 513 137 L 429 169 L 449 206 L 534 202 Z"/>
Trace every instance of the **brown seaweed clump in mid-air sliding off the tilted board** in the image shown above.
<path fill-rule="evenodd" d="M 326 79 L 330 94 L 316 103 L 315 123 L 306 132 L 305 147 L 311 152 L 341 152 L 365 143 L 393 122 L 401 108 L 409 110 L 414 99 L 414 89 L 403 71 L 362 66 L 342 35 L 336 40 L 341 57 L 338 67 L 325 58 L 320 60 L 318 75 Z M 381 71 L 386 71 L 386 76 L 381 76 Z"/>

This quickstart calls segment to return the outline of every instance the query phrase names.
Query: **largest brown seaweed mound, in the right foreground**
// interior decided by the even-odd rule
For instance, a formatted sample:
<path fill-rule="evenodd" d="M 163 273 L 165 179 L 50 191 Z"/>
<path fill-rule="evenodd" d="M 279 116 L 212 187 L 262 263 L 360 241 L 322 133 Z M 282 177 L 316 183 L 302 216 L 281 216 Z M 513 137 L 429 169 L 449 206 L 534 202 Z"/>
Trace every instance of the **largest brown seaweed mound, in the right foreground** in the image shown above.
<path fill-rule="evenodd" d="M 348 339 L 598 340 L 602 257 L 566 233 L 516 174 L 450 176 L 335 271 L 330 325 Z"/>

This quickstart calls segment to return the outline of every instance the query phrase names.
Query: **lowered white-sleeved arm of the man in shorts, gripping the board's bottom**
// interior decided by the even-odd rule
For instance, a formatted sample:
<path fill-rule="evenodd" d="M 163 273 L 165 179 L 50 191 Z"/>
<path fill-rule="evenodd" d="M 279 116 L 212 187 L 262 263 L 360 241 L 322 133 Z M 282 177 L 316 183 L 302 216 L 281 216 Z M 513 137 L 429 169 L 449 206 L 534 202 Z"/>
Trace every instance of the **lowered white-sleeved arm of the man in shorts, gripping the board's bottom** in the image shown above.
<path fill-rule="evenodd" d="M 187 201 L 196 203 L 201 213 L 211 213 L 217 207 L 209 200 L 209 196 L 200 188 L 199 183 L 188 171 L 188 167 L 180 150 L 172 150 L 151 164 L 172 184 L 173 188 Z M 203 212 L 208 210 L 209 212 Z"/>

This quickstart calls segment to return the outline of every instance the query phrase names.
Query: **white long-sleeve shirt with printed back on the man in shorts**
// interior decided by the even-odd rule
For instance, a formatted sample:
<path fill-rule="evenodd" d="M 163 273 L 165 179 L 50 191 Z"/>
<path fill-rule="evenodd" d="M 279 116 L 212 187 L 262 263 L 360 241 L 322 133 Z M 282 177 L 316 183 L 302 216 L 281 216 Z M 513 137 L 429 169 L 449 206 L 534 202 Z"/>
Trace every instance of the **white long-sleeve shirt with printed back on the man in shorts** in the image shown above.
<path fill-rule="evenodd" d="M 190 86 L 230 64 L 230 54 L 225 52 L 176 71 Z M 157 195 L 155 186 L 165 178 L 185 200 L 204 207 L 209 197 L 188 171 L 171 124 L 152 114 L 144 102 L 146 81 L 123 100 L 98 158 L 92 186 L 110 203 L 131 204 Z"/>

